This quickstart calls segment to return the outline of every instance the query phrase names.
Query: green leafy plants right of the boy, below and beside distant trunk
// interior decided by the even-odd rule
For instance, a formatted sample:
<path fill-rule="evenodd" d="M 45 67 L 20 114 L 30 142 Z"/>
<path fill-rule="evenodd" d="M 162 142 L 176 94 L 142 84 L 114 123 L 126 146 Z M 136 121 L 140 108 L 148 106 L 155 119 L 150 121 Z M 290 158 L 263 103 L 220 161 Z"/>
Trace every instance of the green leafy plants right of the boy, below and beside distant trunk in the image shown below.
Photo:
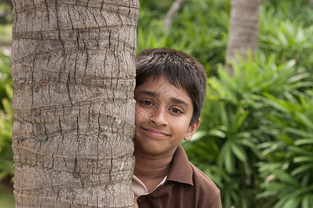
<path fill-rule="evenodd" d="M 208 78 L 202 125 L 184 148 L 223 207 L 312 207 L 312 12 L 308 1 L 266 1 L 260 51 Z"/>

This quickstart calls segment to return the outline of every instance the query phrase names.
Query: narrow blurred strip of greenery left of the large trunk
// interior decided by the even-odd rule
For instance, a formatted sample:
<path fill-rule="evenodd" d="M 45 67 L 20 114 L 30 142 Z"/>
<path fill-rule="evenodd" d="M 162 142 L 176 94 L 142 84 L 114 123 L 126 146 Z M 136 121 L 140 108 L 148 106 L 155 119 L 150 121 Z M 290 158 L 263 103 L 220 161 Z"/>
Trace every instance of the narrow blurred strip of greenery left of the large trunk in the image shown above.
<path fill-rule="evenodd" d="M 12 3 L 0 1 L 0 207 L 14 207 L 13 158 L 11 134 L 12 78 L 10 75 L 10 47 L 12 44 Z"/>

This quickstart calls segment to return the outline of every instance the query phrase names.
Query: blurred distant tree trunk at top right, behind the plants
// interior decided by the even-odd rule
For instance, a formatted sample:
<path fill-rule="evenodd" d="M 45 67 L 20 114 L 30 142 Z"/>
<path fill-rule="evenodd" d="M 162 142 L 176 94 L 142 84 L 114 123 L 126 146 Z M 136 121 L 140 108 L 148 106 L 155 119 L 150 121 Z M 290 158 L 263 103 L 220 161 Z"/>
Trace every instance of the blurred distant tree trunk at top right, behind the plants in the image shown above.
<path fill-rule="evenodd" d="M 263 0 L 232 0 L 229 42 L 226 62 L 239 53 L 247 58 L 247 50 L 258 49 L 259 13 Z"/>

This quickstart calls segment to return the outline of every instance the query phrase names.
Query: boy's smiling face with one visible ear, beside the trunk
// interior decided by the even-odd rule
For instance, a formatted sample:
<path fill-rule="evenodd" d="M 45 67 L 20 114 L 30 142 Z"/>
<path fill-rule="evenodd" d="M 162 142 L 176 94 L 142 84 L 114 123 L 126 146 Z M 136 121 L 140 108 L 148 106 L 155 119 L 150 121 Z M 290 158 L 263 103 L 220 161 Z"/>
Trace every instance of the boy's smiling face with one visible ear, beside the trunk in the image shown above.
<path fill-rule="evenodd" d="M 182 139 L 189 140 L 199 127 L 190 124 L 193 104 L 183 88 L 165 78 L 147 79 L 135 89 L 135 152 L 145 156 L 172 154 Z"/>

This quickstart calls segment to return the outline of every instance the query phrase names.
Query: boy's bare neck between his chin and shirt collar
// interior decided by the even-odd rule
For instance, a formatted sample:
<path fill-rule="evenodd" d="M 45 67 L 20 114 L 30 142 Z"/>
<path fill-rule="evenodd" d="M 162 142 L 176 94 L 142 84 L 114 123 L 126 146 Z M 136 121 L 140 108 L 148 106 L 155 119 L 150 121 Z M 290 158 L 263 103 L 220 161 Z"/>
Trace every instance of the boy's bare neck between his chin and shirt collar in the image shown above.
<path fill-rule="evenodd" d="M 134 175 L 145 184 L 149 192 L 153 191 L 163 178 L 168 175 L 173 155 L 153 158 L 145 157 L 135 151 L 134 156 L 136 158 Z"/>

